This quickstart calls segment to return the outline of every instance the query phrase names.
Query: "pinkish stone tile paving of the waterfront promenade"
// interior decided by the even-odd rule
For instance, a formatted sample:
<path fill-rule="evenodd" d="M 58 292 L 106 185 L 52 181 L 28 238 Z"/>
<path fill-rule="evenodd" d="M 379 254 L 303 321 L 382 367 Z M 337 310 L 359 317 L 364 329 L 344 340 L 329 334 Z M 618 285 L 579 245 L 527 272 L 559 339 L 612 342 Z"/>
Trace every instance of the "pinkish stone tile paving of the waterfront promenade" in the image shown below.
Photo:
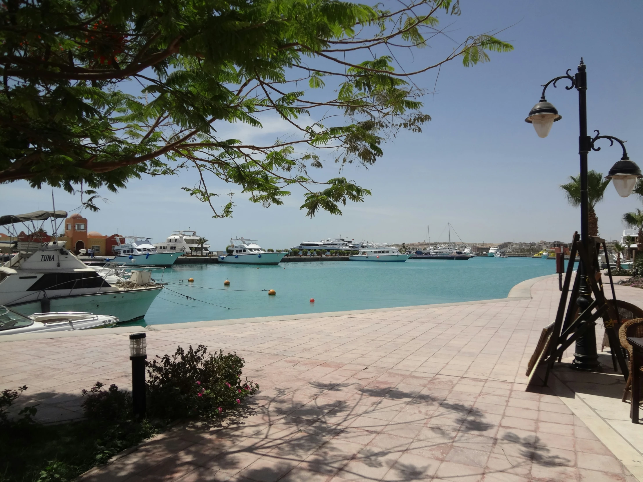
<path fill-rule="evenodd" d="M 635 301 L 631 290 L 618 296 Z M 527 361 L 554 319 L 557 279 L 531 292 L 147 332 L 152 355 L 177 344 L 236 350 L 262 389 L 242 424 L 177 427 L 83 480 L 635 481 L 559 397 L 525 391 Z M 28 385 L 42 420 L 80 416 L 80 389 L 96 380 L 129 384 L 127 334 L 0 346 L 0 388 Z"/>

